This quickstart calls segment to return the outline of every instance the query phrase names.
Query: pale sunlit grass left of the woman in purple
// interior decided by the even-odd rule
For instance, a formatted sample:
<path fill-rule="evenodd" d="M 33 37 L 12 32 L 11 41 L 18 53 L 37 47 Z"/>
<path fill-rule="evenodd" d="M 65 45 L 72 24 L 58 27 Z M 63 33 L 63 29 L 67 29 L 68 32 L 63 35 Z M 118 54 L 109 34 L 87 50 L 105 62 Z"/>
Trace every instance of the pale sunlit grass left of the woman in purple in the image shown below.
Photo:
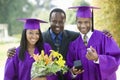
<path fill-rule="evenodd" d="M 6 59 L 7 59 L 7 50 L 9 48 L 12 48 L 12 47 L 17 47 L 19 46 L 19 35 L 15 35 L 17 37 L 12 37 L 9 38 L 7 41 L 5 40 L 2 40 L 0 41 L 0 80 L 3 80 L 3 76 L 4 76 L 4 66 L 5 66 L 5 62 L 6 62 Z"/>

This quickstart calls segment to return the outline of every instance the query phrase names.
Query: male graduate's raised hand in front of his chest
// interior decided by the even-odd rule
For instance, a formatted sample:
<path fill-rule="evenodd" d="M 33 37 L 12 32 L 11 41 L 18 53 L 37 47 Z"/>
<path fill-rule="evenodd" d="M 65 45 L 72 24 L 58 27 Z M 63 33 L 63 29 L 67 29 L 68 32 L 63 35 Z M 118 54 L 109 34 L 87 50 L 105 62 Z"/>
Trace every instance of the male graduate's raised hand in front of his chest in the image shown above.
<path fill-rule="evenodd" d="M 88 60 L 93 60 L 93 61 L 98 60 L 98 54 L 97 54 L 96 50 L 92 46 L 90 46 L 90 48 L 87 49 L 86 58 Z"/>

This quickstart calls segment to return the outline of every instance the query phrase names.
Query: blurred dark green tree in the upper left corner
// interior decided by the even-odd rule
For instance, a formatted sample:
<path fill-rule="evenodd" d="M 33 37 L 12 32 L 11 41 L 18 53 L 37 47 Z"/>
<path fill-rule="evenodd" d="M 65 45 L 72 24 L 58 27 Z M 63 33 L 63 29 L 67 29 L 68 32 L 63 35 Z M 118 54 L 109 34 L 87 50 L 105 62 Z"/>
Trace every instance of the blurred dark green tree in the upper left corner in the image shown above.
<path fill-rule="evenodd" d="M 22 24 L 17 18 L 29 17 L 32 5 L 27 0 L 0 0 L 0 23 L 7 23 L 9 34 L 21 32 Z"/>

